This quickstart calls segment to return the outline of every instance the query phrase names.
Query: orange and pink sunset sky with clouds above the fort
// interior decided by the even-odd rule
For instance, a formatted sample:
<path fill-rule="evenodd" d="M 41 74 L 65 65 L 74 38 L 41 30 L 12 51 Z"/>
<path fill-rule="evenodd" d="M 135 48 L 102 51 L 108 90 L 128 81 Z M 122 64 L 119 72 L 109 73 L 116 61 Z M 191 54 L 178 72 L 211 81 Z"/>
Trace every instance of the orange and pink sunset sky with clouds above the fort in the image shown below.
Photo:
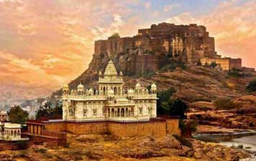
<path fill-rule="evenodd" d="M 80 75 L 95 40 L 163 21 L 206 26 L 216 51 L 256 67 L 256 1 L 0 0 L 0 99 L 45 97 Z"/>

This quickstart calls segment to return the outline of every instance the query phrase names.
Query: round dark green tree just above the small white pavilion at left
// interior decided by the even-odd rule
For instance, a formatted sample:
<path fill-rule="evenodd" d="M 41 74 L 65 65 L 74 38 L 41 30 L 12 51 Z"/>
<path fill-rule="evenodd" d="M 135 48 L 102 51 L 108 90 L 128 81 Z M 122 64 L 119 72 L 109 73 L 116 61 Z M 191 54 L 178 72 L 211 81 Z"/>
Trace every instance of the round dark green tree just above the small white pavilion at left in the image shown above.
<path fill-rule="evenodd" d="M 12 123 L 24 124 L 29 119 L 29 113 L 19 106 L 12 107 L 7 114 Z"/>

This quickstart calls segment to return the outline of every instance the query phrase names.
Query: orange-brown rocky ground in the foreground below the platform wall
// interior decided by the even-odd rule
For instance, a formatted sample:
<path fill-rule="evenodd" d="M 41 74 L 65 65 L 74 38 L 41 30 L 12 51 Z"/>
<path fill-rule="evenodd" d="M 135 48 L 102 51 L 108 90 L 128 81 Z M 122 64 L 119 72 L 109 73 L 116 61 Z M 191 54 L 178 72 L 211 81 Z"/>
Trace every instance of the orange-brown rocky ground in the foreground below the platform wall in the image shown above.
<path fill-rule="evenodd" d="M 113 137 L 111 135 L 71 135 L 65 147 L 32 145 L 27 150 L 1 150 L 0 160 L 119 160 L 119 161 L 237 161 L 247 152 L 193 139 L 167 136 Z"/>

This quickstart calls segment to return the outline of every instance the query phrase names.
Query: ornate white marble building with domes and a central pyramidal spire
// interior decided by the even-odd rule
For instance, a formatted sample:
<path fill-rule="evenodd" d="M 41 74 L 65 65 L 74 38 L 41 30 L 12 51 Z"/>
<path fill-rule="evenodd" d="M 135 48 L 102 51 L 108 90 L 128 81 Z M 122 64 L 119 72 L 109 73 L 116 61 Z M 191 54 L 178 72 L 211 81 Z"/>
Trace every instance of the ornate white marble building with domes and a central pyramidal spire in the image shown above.
<path fill-rule="evenodd" d="M 63 119 L 65 120 L 138 120 L 157 117 L 157 87 L 150 91 L 138 82 L 135 89 L 123 89 L 122 72 L 117 74 L 112 61 L 104 74 L 99 72 L 99 89 L 84 89 L 79 84 L 71 90 L 63 86 Z"/>

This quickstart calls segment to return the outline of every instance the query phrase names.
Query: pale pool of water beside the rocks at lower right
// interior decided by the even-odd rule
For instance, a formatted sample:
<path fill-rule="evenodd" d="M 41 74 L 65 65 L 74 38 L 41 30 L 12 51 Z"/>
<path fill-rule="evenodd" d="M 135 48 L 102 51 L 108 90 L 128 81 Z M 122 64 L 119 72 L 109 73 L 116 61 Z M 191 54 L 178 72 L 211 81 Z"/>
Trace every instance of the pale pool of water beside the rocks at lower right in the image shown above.
<path fill-rule="evenodd" d="M 252 156 L 252 158 L 248 158 L 246 161 L 256 161 L 256 132 L 238 132 L 224 135 L 201 134 L 194 135 L 193 137 L 204 142 L 217 142 L 228 147 L 242 148 L 247 150 Z"/>

